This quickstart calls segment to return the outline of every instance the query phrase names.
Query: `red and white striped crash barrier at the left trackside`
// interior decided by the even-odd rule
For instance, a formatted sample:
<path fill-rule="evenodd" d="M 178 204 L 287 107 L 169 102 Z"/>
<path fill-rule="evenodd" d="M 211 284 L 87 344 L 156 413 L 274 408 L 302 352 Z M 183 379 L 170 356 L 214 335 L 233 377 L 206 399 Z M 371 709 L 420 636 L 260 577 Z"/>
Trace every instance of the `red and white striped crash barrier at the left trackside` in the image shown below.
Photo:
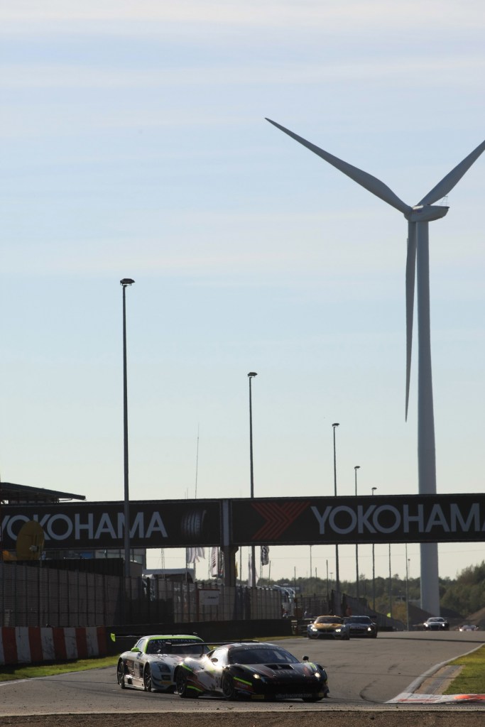
<path fill-rule="evenodd" d="M 104 627 L 0 628 L 0 664 L 39 664 L 105 656 Z"/>

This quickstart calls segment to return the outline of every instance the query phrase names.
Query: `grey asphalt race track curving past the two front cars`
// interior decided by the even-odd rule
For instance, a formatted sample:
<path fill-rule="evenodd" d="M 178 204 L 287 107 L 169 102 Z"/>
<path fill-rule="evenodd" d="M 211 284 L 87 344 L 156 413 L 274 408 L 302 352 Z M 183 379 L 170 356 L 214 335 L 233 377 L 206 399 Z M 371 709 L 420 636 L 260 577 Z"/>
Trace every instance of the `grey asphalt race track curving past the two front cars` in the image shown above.
<path fill-rule="evenodd" d="M 22 682 L 0 683 L 0 724 L 2 717 L 18 715 L 137 715 L 178 714 L 191 712 L 191 724 L 196 715 L 217 715 L 221 712 L 238 712 L 244 715 L 257 713 L 260 717 L 288 712 L 324 710 L 406 710 L 408 705 L 385 704 L 436 666 L 456 656 L 472 651 L 484 643 L 481 632 L 433 633 L 400 632 L 382 633 L 377 639 L 350 641 L 291 638 L 278 641 L 295 656 L 307 654 L 312 661 L 324 665 L 329 675 L 330 698 L 318 705 L 303 702 L 225 702 L 223 699 L 201 698 L 184 700 L 177 695 L 153 694 L 142 691 L 121 690 L 116 684 L 115 667 L 72 672 Z M 480 709 L 474 705 L 473 709 Z M 415 707 L 414 707 L 415 709 Z M 453 707 L 465 711 L 467 707 Z M 481 717 L 483 718 L 483 712 Z M 286 720 L 285 720 L 286 721 Z M 309 720 L 310 721 L 310 720 Z M 12 724 L 20 724 L 15 721 Z M 31 720 L 25 724 L 33 724 Z M 51 721 L 51 723 L 53 723 Z M 65 722 L 67 724 L 67 722 Z M 69 722 L 71 724 L 71 721 Z M 87 724 L 87 722 L 84 722 Z M 104 727 L 110 724 L 105 718 Z M 242 722 L 241 722 L 242 724 Z M 253 724 L 255 722 L 253 721 Z M 167 724 L 164 720 L 164 727 Z"/>

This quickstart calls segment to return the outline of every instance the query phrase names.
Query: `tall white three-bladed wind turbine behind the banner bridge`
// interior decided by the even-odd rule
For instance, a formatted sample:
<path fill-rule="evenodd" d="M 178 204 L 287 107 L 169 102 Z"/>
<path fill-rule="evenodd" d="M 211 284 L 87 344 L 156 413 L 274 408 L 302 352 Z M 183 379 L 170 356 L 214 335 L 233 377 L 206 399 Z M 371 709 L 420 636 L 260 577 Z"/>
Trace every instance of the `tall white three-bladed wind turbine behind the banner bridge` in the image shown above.
<path fill-rule="evenodd" d="M 329 164 L 347 174 L 350 179 L 375 196 L 395 207 L 408 221 L 406 258 L 406 419 L 409 404 L 409 380 L 411 374 L 412 324 L 414 311 L 414 278 L 417 278 L 417 328 L 418 328 L 418 392 L 417 392 L 417 462 L 420 494 L 436 494 L 435 432 L 433 416 L 433 381 L 431 376 L 430 344 L 430 277 L 428 224 L 439 220 L 448 212 L 447 206 L 433 204 L 454 188 L 463 174 L 485 150 L 485 141 L 452 169 L 436 187 L 433 187 L 418 204 L 409 206 L 393 190 L 372 174 L 329 154 L 302 137 L 285 129 L 276 121 L 266 119 L 292 139 L 300 142 Z M 436 543 L 421 544 L 421 607 L 432 614 L 439 614 L 438 546 Z"/>

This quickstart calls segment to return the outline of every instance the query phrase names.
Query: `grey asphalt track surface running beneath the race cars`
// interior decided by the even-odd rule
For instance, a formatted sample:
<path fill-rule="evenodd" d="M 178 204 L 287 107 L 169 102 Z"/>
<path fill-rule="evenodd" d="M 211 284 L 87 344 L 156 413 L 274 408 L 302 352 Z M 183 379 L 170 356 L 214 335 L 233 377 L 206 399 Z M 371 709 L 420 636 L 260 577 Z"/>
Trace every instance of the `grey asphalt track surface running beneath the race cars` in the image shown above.
<path fill-rule="evenodd" d="M 372 720 L 377 727 L 378 715 L 385 718 L 385 727 L 392 727 L 398 712 L 401 727 L 408 721 L 405 712 L 419 712 L 422 718 L 413 724 L 433 725 L 432 714 L 441 714 L 439 724 L 460 727 L 485 724 L 484 708 L 481 704 L 433 705 L 419 707 L 414 704 L 386 704 L 388 700 L 406 691 L 417 691 L 425 677 L 436 671 L 438 665 L 485 643 L 481 632 L 398 632 L 382 633 L 377 639 L 353 638 L 350 641 L 308 640 L 291 638 L 278 640 L 278 644 L 301 658 L 307 654 L 310 660 L 321 663 L 329 675 L 330 697 L 315 704 L 303 702 L 225 702 L 223 699 L 201 698 L 180 699 L 177 695 L 153 694 L 124 689 L 116 684 L 115 667 L 71 672 L 21 682 L 0 683 L 0 725 L 57 725 L 86 727 L 99 725 L 110 727 L 125 721 L 127 715 L 137 715 L 137 724 L 148 727 L 153 723 L 163 727 L 187 725 L 217 726 L 236 723 L 240 727 L 291 725 L 304 720 L 305 727 L 313 724 L 346 725 L 351 727 Z M 295 714 L 297 712 L 297 714 Z M 324 716 L 325 719 L 321 721 Z M 332 713 L 332 714 L 331 714 Z M 428 718 L 424 719 L 428 713 Z M 55 715 L 42 718 L 42 715 Z M 82 715 L 82 717 L 81 717 Z M 151 718 L 156 718 L 158 721 Z M 163 715 L 163 720 L 161 720 Z M 225 715 L 225 716 L 224 716 Z M 359 717 L 360 715 L 360 717 Z M 81 719 L 79 719 L 81 718 Z M 345 718 L 345 719 L 344 719 Z M 222 721 L 221 721 L 222 720 Z M 234 721 L 236 720 L 236 722 Z M 275 721 L 276 720 L 276 721 Z M 381 722 L 384 725 L 384 721 Z M 412 724 L 410 722 L 409 724 Z"/>

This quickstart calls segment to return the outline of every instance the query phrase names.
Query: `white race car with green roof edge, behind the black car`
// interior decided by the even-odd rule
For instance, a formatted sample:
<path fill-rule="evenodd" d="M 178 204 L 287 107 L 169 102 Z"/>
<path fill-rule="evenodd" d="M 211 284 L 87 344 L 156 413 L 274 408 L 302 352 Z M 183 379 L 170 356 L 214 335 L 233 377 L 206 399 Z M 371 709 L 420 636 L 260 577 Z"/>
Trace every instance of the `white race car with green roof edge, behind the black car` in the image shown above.
<path fill-rule="evenodd" d="M 196 635 L 143 636 L 131 651 L 120 655 L 116 678 L 121 689 L 173 692 L 175 667 L 185 656 L 201 656 L 207 651 L 209 646 Z"/>

